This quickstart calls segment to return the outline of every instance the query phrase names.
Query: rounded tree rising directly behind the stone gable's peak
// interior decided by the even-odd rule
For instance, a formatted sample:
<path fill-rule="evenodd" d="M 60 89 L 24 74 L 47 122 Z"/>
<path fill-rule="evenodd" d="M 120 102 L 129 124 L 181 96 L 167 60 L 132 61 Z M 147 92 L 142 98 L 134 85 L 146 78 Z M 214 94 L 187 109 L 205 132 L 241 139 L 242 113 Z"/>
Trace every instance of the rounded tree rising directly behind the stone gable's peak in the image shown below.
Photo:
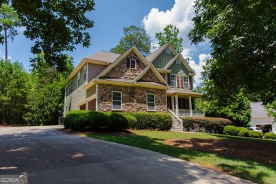
<path fill-rule="evenodd" d="M 123 54 L 130 47 L 135 46 L 144 56 L 149 54 L 151 51 L 151 40 L 149 39 L 149 35 L 146 34 L 144 28 L 130 25 L 130 27 L 124 28 L 124 35 L 125 37 L 121 38 L 119 45 L 113 47 L 110 52 Z"/>

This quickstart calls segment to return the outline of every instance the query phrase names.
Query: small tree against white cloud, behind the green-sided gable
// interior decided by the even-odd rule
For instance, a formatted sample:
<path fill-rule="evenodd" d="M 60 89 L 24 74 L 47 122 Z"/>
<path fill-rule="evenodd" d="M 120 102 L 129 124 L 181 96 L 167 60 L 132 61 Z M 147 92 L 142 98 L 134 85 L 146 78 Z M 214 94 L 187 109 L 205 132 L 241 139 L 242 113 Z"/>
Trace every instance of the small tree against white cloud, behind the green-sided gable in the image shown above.
<path fill-rule="evenodd" d="M 162 47 L 166 45 L 167 42 L 170 42 L 176 52 L 181 53 L 183 51 L 182 42 L 183 38 L 178 38 L 179 29 L 176 28 L 176 25 L 171 24 L 167 25 L 166 28 L 163 28 L 163 33 L 156 33 L 155 36 L 159 40 L 159 46 Z"/>

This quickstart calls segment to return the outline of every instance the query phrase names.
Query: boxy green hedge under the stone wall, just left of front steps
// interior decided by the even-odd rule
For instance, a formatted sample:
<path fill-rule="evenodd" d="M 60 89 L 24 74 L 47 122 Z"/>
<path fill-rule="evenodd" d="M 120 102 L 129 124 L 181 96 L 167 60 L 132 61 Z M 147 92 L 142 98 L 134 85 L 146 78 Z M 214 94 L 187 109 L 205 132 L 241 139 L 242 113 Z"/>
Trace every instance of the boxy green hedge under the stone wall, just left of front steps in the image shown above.
<path fill-rule="evenodd" d="M 171 130 L 173 118 L 167 113 L 121 113 L 137 120 L 137 130 Z M 131 127 L 133 128 L 133 127 Z"/>

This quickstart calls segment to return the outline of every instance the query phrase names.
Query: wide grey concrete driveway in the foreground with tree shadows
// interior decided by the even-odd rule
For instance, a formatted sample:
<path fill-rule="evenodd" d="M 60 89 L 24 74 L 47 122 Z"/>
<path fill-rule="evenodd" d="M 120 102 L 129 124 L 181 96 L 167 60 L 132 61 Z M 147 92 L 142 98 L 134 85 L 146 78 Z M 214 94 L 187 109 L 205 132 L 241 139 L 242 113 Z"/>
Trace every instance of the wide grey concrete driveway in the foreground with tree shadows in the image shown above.
<path fill-rule="evenodd" d="M 188 161 L 61 132 L 62 126 L 1 127 L 0 175 L 28 183 L 250 183 Z"/>

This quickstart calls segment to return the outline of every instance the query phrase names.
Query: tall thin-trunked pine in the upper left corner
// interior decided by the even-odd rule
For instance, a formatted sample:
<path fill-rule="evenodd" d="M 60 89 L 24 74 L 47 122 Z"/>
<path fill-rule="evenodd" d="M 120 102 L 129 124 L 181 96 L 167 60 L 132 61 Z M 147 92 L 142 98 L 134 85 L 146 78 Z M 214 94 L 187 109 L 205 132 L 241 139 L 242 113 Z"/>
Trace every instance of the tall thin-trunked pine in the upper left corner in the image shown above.
<path fill-rule="evenodd" d="M 4 30 L 4 40 L 5 40 L 5 51 L 6 59 L 8 59 L 8 38 L 13 41 L 14 37 L 18 35 L 17 31 L 14 29 L 19 25 L 19 18 L 16 12 L 8 4 L 1 4 L 0 7 L 0 25 L 1 30 Z M 2 42 L 3 37 L 0 37 Z M 3 43 L 3 42 L 2 42 Z"/>

